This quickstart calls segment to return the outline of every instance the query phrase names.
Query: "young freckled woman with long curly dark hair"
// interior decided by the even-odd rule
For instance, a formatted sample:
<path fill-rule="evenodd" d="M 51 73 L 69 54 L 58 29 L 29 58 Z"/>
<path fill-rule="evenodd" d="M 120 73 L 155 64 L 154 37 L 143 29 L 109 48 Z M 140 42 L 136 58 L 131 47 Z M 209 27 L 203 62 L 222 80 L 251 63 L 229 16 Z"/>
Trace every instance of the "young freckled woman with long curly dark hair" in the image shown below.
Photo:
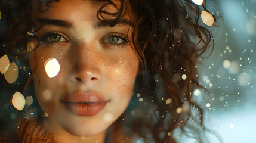
<path fill-rule="evenodd" d="M 197 59 L 212 37 L 198 24 L 199 7 L 174 0 L 1 1 L 1 57 L 23 67 L 13 82 L 5 75 L 16 88 L 1 98 L 16 91 L 29 97 L 18 124 L 2 128 L 2 141 L 175 142 L 174 129 L 184 130 L 189 118 L 200 136 L 203 115 L 192 90 L 199 86 Z"/>

